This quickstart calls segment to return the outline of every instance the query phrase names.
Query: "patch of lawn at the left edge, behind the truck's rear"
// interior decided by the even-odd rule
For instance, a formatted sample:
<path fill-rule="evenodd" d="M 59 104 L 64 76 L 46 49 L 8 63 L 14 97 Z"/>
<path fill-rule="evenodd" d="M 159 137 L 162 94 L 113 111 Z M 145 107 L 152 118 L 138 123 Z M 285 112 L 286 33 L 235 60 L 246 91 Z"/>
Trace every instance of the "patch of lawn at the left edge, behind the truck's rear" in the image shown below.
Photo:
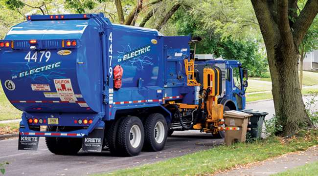
<path fill-rule="evenodd" d="M 21 111 L 15 108 L 6 98 L 0 84 L 0 120 L 21 118 Z"/>

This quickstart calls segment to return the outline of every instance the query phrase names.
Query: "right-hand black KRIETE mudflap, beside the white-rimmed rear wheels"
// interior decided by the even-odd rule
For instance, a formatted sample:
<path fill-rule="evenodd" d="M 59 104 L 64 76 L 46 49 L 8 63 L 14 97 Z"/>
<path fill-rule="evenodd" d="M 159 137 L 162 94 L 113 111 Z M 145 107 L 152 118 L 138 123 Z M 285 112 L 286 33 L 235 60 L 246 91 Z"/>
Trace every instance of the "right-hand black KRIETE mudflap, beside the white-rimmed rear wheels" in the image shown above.
<path fill-rule="evenodd" d="M 104 128 L 95 128 L 83 138 L 82 150 L 85 152 L 102 152 Z"/>

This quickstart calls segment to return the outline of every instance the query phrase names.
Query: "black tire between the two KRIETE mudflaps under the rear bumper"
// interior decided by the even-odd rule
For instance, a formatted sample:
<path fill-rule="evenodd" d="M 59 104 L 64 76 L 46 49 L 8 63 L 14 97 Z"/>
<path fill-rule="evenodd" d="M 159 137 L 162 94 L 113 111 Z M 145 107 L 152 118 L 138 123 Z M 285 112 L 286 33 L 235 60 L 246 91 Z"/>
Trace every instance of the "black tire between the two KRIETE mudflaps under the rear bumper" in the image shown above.
<path fill-rule="evenodd" d="M 71 130 L 71 127 L 47 126 L 46 131 Z M 47 149 L 55 155 L 76 155 L 82 148 L 82 138 L 45 137 Z"/>

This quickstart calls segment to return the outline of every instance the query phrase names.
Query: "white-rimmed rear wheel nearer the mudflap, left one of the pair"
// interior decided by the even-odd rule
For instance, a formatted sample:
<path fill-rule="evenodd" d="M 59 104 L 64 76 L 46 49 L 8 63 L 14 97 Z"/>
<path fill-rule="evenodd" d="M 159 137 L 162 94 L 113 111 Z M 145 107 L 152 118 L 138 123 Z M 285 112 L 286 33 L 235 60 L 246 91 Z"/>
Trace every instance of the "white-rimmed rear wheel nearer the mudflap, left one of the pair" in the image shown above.
<path fill-rule="evenodd" d="M 136 156 L 141 152 L 144 130 L 138 117 L 125 117 L 119 122 L 117 131 L 118 153 L 122 156 Z"/>

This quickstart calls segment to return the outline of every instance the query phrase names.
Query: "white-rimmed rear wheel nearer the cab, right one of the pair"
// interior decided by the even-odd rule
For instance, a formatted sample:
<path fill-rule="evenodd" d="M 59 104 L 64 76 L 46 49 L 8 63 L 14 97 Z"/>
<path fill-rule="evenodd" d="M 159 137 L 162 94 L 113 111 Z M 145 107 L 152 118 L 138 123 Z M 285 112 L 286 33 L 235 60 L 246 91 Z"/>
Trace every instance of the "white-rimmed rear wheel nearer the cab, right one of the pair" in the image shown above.
<path fill-rule="evenodd" d="M 168 134 L 166 119 L 161 114 L 151 114 L 145 119 L 144 128 L 144 149 L 153 152 L 162 150 L 166 144 Z"/>

